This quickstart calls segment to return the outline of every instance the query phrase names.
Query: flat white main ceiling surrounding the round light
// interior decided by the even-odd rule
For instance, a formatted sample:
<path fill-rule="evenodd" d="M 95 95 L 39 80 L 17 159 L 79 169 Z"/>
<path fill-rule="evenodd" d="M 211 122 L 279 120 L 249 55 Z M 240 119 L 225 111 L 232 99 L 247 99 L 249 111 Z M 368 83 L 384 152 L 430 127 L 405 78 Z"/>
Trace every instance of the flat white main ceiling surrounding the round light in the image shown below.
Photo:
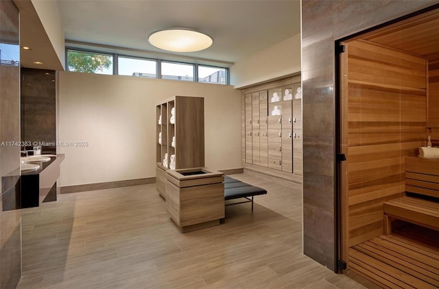
<path fill-rule="evenodd" d="M 300 0 L 57 2 L 66 47 L 84 48 L 93 44 L 88 48 L 128 55 L 171 60 L 173 57 L 195 58 L 199 63 L 217 62 L 230 66 L 247 55 L 300 33 Z M 38 19 L 28 18 L 31 23 L 25 27 L 35 30 Z M 26 22 L 28 18 L 22 16 L 21 21 Z M 147 42 L 152 32 L 171 27 L 186 27 L 208 34 L 213 38 L 213 45 L 193 53 L 168 53 Z M 32 32 L 32 36 L 35 35 L 36 32 Z M 30 37 L 26 33 L 21 36 L 22 43 L 25 37 Z M 44 40 L 44 37 L 40 39 Z M 45 44 L 43 40 L 39 41 L 41 45 Z M 26 51 L 27 56 L 32 55 L 32 51 Z M 25 67 L 34 66 L 27 57 L 22 58 L 21 63 Z"/>

